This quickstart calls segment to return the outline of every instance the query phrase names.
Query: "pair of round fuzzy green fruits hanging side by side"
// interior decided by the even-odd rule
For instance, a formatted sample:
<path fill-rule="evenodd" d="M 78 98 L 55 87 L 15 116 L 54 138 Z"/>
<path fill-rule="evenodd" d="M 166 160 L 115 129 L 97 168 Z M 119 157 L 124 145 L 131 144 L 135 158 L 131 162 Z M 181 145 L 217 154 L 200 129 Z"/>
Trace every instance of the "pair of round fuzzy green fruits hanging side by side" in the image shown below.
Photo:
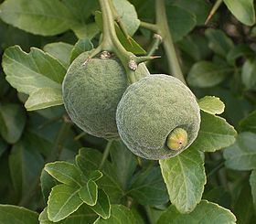
<path fill-rule="evenodd" d="M 121 137 L 135 154 L 165 159 L 185 150 L 197 137 L 200 113 L 194 94 L 180 80 L 150 75 L 142 63 L 129 85 L 119 59 L 84 52 L 63 81 L 64 105 L 84 132 L 106 139 Z"/>

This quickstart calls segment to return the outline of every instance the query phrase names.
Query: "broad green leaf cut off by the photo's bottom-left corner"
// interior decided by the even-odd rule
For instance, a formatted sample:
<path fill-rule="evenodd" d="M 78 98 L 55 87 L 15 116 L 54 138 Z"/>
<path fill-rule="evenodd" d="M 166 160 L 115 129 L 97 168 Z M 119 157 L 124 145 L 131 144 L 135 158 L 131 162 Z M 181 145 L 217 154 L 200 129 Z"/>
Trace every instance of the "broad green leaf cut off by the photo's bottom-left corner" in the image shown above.
<path fill-rule="evenodd" d="M 37 219 L 38 214 L 35 211 L 18 206 L 0 205 L 0 223 L 35 224 L 38 222 Z"/>

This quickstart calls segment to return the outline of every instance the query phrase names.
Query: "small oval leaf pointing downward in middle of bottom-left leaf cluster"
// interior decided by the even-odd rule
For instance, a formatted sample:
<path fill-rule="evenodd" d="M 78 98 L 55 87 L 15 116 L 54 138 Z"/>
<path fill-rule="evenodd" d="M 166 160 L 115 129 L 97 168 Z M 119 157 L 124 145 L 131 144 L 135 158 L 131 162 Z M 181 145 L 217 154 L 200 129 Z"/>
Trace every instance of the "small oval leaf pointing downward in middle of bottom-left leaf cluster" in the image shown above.
<path fill-rule="evenodd" d="M 84 203 L 94 206 L 98 198 L 98 186 L 90 179 L 85 186 L 80 188 L 79 194 Z"/>

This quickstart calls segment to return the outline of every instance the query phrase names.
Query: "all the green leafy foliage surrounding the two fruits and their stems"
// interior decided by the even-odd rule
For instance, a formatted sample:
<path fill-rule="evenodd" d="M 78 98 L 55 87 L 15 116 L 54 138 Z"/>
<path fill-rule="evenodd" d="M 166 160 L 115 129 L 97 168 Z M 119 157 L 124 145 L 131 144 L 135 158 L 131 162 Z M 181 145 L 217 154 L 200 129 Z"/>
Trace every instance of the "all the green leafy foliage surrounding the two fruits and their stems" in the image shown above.
<path fill-rule="evenodd" d="M 0 222 L 253 223 L 253 0 L 165 0 L 202 123 L 187 151 L 159 163 L 82 133 L 62 105 L 69 64 L 99 43 L 98 1 L 0 2 Z M 151 49 L 154 32 L 141 21 L 155 22 L 154 2 L 113 0 L 131 36 L 117 26 L 118 37 L 135 54 Z M 170 73 L 165 48 L 155 54 L 151 73 Z"/>

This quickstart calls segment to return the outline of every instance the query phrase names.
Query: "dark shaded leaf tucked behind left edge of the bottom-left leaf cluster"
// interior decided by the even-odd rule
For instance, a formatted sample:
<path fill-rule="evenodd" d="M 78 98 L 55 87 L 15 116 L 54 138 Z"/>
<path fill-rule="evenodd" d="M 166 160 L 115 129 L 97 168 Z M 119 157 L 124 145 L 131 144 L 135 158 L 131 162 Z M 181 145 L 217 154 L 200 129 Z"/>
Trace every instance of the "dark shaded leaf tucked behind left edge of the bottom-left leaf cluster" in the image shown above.
<path fill-rule="evenodd" d="M 44 197 L 44 201 L 47 203 L 48 196 L 51 191 L 52 187 L 55 187 L 59 184 L 59 182 L 50 176 L 48 172 L 45 171 L 45 169 L 42 170 L 41 176 L 40 176 L 40 186 L 42 195 Z"/>

